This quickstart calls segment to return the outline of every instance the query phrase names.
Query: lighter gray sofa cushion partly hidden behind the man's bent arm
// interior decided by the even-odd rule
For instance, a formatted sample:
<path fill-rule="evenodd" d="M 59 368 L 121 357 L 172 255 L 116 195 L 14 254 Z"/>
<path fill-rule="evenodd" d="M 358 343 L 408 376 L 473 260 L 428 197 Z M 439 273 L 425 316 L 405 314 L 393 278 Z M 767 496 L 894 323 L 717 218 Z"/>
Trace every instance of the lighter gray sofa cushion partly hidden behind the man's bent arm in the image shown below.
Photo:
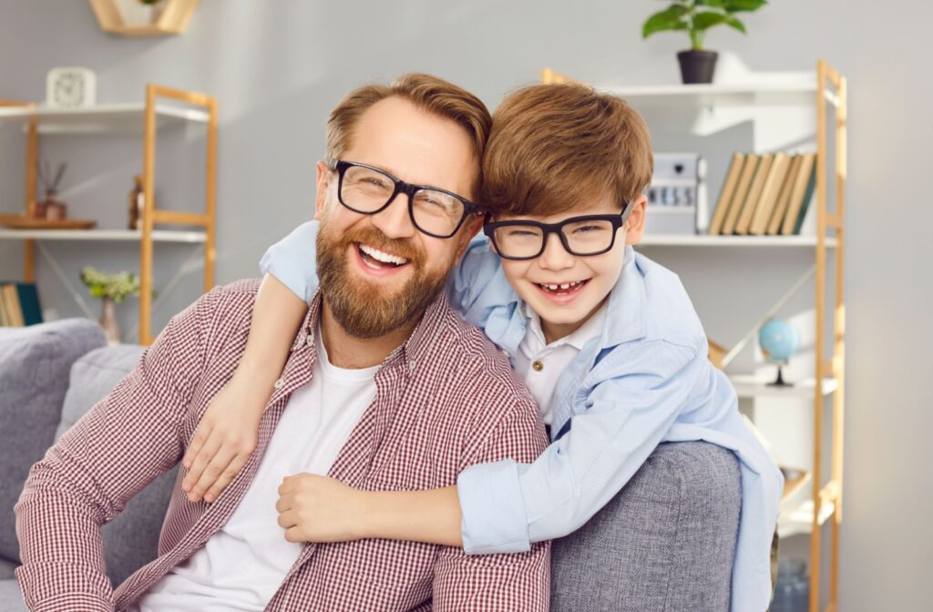
<path fill-rule="evenodd" d="M 143 351 L 142 346 L 124 344 L 97 349 L 78 359 L 71 369 L 58 436 L 110 393 L 135 368 Z M 174 468 L 149 483 L 101 529 L 107 576 L 115 587 L 156 558 L 177 471 Z"/>

